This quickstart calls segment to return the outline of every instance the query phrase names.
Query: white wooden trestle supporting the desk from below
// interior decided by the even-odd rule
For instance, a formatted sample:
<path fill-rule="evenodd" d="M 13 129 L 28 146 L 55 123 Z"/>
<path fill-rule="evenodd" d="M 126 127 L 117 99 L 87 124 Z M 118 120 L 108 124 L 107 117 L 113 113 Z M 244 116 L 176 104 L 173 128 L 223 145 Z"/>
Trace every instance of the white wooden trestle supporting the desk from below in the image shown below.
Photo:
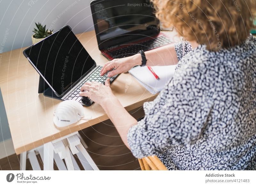
<path fill-rule="evenodd" d="M 88 146 L 80 134 L 75 132 L 52 142 L 45 143 L 36 149 L 21 153 L 20 170 L 26 169 L 27 155 L 33 170 L 41 170 L 36 157 L 37 153 L 40 154 L 43 160 L 44 170 L 53 170 L 53 161 L 55 161 L 59 170 L 80 170 L 74 157 L 75 154 L 84 167 L 84 170 L 99 170 L 85 148 L 88 148 Z"/>

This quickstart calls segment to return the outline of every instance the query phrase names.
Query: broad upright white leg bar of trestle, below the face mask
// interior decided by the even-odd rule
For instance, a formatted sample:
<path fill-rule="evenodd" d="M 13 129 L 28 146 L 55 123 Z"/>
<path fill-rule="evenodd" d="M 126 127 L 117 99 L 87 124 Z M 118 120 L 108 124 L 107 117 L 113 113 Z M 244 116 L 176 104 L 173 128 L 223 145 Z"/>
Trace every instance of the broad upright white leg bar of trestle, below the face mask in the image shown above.
<path fill-rule="evenodd" d="M 52 142 L 44 144 L 44 170 L 53 170 Z"/>

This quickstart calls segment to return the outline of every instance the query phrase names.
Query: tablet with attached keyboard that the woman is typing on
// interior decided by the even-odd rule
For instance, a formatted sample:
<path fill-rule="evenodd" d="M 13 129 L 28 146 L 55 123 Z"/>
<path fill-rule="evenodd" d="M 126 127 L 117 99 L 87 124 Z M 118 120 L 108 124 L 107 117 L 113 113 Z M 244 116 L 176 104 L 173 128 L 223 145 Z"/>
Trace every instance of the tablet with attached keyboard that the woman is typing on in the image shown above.
<path fill-rule="evenodd" d="M 23 54 L 47 83 L 52 97 L 57 99 L 71 99 L 90 106 L 92 100 L 79 95 L 81 86 L 88 81 L 104 84 L 108 78 L 107 74 L 100 76 L 102 66 L 96 65 L 69 26 L 31 45 Z M 115 78 L 113 76 L 110 83 Z"/>

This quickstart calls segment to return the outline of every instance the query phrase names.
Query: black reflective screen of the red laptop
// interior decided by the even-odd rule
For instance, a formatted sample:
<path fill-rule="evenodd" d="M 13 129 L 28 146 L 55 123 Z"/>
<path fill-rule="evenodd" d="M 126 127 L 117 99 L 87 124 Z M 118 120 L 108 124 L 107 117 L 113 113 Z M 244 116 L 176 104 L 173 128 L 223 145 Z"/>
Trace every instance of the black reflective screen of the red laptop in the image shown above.
<path fill-rule="evenodd" d="M 98 0 L 91 9 L 100 49 L 160 32 L 149 0 Z"/>

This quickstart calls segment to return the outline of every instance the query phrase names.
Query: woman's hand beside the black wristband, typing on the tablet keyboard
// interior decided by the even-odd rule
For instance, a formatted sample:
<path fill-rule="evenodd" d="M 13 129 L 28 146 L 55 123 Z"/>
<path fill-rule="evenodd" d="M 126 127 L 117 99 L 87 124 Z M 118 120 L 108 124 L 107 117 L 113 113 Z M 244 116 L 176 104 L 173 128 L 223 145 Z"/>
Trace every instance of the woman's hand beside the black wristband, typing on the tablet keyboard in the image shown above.
<path fill-rule="evenodd" d="M 108 77 L 113 77 L 116 74 L 128 72 L 133 66 L 136 65 L 141 65 L 140 54 L 136 54 L 126 58 L 113 59 L 112 61 L 107 62 L 102 67 L 100 75 L 103 76 L 109 71 Z"/>

